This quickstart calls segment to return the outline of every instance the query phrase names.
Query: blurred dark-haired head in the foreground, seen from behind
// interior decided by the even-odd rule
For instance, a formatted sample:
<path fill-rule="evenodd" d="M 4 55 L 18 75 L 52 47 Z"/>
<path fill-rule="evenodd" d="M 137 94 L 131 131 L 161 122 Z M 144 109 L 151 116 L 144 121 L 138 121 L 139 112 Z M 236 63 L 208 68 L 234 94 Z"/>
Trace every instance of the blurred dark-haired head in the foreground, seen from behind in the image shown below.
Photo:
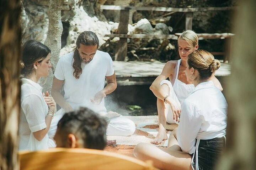
<path fill-rule="evenodd" d="M 66 142 L 73 134 L 84 148 L 104 149 L 106 146 L 106 121 L 94 111 L 81 107 L 77 111 L 65 113 L 58 123 L 58 133 Z"/>

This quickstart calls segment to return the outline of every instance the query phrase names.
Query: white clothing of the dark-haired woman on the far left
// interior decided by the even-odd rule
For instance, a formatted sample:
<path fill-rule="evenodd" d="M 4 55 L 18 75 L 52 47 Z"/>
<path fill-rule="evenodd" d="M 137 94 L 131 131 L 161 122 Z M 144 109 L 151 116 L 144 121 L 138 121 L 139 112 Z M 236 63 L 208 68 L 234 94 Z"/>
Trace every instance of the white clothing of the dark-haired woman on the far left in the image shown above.
<path fill-rule="evenodd" d="M 32 80 L 22 78 L 21 114 L 18 126 L 19 150 L 39 150 L 56 147 L 48 135 L 41 141 L 36 140 L 33 132 L 46 128 L 45 117 L 48 106 L 42 95 L 42 87 Z"/>

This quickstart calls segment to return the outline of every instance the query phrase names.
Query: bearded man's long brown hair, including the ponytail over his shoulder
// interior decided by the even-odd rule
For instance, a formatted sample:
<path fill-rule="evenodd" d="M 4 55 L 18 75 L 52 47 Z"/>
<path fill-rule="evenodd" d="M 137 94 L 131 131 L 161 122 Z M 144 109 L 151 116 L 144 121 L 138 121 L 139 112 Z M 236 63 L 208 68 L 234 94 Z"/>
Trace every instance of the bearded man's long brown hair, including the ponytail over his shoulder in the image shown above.
<path fill-rule="evenodd" d="M 80 48 L 80 44 L 97 45 L 97 48 L 98 48 L 99 40 L 97 35 L 91 31 L 84 31 L 78 36 L 78 39 L 76 40 L 76 48 L 74 50 L 74 56 L 73 56 L 74 62 L 72 65 L 74 68 L 73 75 L 76 79 L 79 79 L 80 74 L 82 74 L 81 57 L 78 51 L 78 49 Z"/>

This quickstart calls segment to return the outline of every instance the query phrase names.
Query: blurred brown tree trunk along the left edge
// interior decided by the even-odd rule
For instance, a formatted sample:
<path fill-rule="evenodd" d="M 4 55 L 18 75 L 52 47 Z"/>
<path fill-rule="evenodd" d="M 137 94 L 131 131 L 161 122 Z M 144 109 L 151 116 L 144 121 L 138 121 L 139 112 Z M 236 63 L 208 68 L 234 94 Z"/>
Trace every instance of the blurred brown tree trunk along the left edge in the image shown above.
<path fill-rule="evenodd" d="M 20 0 L 1 1 L 0 8 L 0 169 L 16 170 L 20 115 Z"/>

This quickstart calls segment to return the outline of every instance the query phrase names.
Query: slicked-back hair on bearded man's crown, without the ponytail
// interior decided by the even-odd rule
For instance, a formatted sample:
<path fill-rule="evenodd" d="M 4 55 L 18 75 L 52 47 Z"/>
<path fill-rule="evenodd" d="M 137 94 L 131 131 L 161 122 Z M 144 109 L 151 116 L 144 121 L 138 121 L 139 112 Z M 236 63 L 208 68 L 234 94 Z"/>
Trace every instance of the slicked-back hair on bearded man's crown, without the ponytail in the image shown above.
<path fill-rule="evenodd" d="M 83 45 L 99 45 L 99 40 L 97 35 L 91 31 L 84 31 L 82 32 L 77 40 L 76 40 L 76 47 L 80 48 L 80 44 Z"/>

